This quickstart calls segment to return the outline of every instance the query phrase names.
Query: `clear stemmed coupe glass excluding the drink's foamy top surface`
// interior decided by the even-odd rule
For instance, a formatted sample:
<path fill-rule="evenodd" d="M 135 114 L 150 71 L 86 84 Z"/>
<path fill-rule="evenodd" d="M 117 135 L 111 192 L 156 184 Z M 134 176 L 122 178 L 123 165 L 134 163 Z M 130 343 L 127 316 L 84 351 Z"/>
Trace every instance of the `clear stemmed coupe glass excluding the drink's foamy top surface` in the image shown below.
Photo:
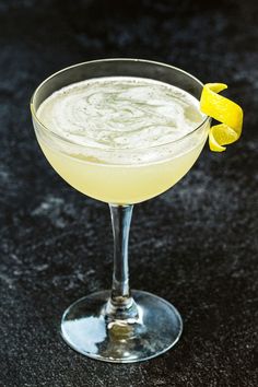
<path fill-rule="evenodd" d="M 162 81 L 196 98 L 200 98 L 203 84 L 168 64 L 138 59 L 104 59 L 79 63 L 52 74 L 32 97 L 36 137 L 49 163 L 75 189 L 109 203 L 112 214 L 112 290 L 86 295 L 70 305 L 61 319 L 62 338 L 72 349 L 89 357 L 131 363 L 164 353 L 175 345 L 183 331 L 181 317 L 172 304 L 144 291 L 130 291 L 128 238 L 132 208 L 137 202 L 164 192 L 190 169 L 207 140 L 210 118 L 203 116 L 201 125 L 176 141 L 129 151 L 97 149 L 98 157 L 94 160 L 91 157 L 92 146 L 80 145 L 52 132 L 40 122 L 37 109 L 61 87 L 99 77 Z M 107 164 L 101 160 L 108 160 L 108 152 L 112 152 L 113 162 Z M 130 155 L 133 152 L 134 156 L 144 154 L 146 162 L 139 165 L 120 162 L 125 161 L 127 152 Z"/>

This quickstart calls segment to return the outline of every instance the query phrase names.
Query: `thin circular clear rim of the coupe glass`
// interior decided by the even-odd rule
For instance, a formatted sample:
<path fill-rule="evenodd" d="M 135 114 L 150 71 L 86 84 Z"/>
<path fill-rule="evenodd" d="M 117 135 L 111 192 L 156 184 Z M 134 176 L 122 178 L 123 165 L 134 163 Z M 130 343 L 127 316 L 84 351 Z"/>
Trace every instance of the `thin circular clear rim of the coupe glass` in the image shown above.
<path fill-rule="evenodd" d="M 51 75 L 47 77 L 43 82 L 39 83 L 39 85 L 35 89 L 32 97 L 31 97 L 31 102 L 30 102 L 30 108 L 31 108 L 31 113 L 32 113 L 32 117 L 35 119 L 35 121 L 37 121 L 37 124 L 39 124 L 39 126 L 48 133 L 50 133 L 51 136 L 54 136 L 55 138 L 61 140 L 61 141 L 64 141 L 69 144 L 72 144 L 72 145 L 75 145 L 75 146 L 79 146 L 79 148 L 90 148 L 90 149 L 97 149 L 98 151 L 103 151 L 103 152 L 108 152 L 108 151 L 116 151 L 116 152 L 119 152 L 119 151 L 122 151 L 122 152 L 126 152 L 126 151 L 141 151 L 141 150 L 144 150 L 144 149 L 153 149 L 153 148 L 159 148 L 159 146 L 165 146 L 165 145 L 169 145 L 172 143 L 177 143 L 181 140 L 185 140 L 186 138 L 190 137 L 192 133 L 195 133 L 196 131 L 198 131 L 198 129 L 200 129 L 203 125 L 206 125 L 209 120 L 211 120 L 211 117 L 210 116 L 207 116 L 206 114 L 203 114 L 203 120 L 201 121 L 201 124 L 199 124 L 197 127 L 195 127 L 191 131 L 189 131 L 188 133 L 179 137 L 178 139 L 176 140 L 172 140 L 172 141 L 168 141 L 168 142 L 164 142 L 162 144 L 157 144 L 157 145 L 151 145 L 151 146 L 142 146 L 142 148 L 137 148 L 134 150 L 132 149 L 128 149 L 128 148 L 99 148 L 99 146 L 93 146 L 93 145 L 81 145 L 79 143 L 77 143 L 75 141 L 72 141 L 72 140 L 69 140 L 67 139 L 66 137 L 62 137 L 58 133 L 56 133 L 55 131 L 50 130 L 46 125 L 44 125 L 39 118 L 37 117 L 37 112 L 35 109 L 35 104 L 34 104 L 34 99 L 35 99 L 35 96 L 37 94 L 37 92 L 40 90 L 42 86 L 44 86 L 44 84 L 46 82 L 48 82 L 51 78 L 58 75 L 59 73 L 62 73 L 64 71 L 68 71 L 70 69 L 73 69 L 75 67 L 80 67 L 80 66 L 83 66 L 83 64 L 90 64 L 90 63 L 96 63 L 96 62 L 108 62 L 108 61 L 128 61 L 128 62 L 142 62 L 142 63 L 153 63 L 153 64 L 157 64 L 157 66 L 161 66 L 161 67 L 166 67 L 166 68 L 169 68 L 169 69 L 173 69 L 173 70 L 176 70 L 178 72 L 181 72 L 184 74 L 186 74 L 187 77 L 191 78 L 194 81 L 196 81 L 197 83 L 199 83 L 202 87 L 203 87 L 203 83 L 196 77 L 191 75 L 189 72 L 185 71 L 185 70 L 181 70 L 175 66 L 171 66 L 171 64 L 167 64 L 167 63 L 163 63 L 163 62 L 159 62 L 159 61 L 155 61 L 155 60 L 148 60 L 148 59 L 136 59 L 136 58 L 103 58 L 103 59 L 95 59 L 95 60 L 87 60 L 87 61 L 84 61 L 84 62 L 80 62 L 80 63 L 75 63 L 75 64 L 72 64 L 72 66 L 68 66 L 59 71 L 56 71 L 54 72 Z M 122 77 L 122 75 L 119 75 L 119 77 Z M 142 77 L 141 77 L 142 78 Z"/>

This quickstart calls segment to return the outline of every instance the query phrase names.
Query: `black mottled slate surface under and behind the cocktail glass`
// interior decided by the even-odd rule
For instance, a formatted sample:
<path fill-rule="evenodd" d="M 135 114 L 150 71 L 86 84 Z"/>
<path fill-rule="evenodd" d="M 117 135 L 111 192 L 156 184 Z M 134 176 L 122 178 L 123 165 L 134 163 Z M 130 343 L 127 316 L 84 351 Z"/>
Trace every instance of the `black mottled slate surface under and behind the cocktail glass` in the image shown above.
<path fill-rule="evenodd" d="M 258 386 L 257 20 L 255 1 L 0 2 L 0 386 Z M 134 209 L 131 285 L 173 302 L 185 330 L 133 365 L 87 360 L 60 339 L 64 308 L 110 285 L 109 213 L 49 167 L 28 112 L 54 71 L 122 56 L 226 82 L 245 109 L 238 143 L 207 148 L 175 188 Z"/>

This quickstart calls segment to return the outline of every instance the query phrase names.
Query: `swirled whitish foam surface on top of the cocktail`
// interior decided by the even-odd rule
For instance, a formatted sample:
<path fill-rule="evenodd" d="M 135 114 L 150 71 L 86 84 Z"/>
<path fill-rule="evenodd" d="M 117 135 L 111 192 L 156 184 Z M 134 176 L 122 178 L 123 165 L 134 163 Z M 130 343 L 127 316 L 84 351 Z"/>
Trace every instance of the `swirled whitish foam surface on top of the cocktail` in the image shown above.
<path fill-rule="evenodd" d="M 73 143 L 133 151 L 177 140 L 203 120 L 199 101 L 187 92 L 126 77 L 63 87 L 44 101 L 37 116 L 44 126 Z"/>

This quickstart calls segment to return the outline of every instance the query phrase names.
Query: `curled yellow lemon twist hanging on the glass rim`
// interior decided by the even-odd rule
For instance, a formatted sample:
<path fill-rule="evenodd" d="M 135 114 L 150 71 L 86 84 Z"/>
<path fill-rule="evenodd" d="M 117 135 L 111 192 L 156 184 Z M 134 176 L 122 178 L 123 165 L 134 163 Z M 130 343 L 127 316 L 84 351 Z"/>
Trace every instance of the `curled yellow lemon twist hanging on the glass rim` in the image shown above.
<path fill-rule="evenodd" d="M 233 101 L 219 95 L 227 89 L 224 83 L 207 83 L 203 86 L 200 109 L 222 122 L 210 128 L 209 145 L 211 151 L 223 152 L 225 146 L 239 139 L 243 126 L 243 110 Z"/>

